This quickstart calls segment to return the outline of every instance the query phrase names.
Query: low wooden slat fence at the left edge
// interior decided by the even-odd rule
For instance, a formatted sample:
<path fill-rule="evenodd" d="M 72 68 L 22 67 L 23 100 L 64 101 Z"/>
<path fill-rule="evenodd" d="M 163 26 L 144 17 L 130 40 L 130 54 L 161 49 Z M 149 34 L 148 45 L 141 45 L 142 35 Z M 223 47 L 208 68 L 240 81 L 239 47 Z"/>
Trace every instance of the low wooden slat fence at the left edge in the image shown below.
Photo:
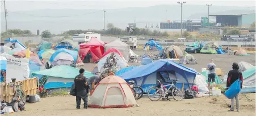
<path fill-rule="evenodd" d="M 24 91 L 25 96 L 36 95 L 37 77 L 29 78 L 24 81 L 1 83 L 0 85 L 1 85 L 1 101 L 11 102 L 18 86 L 20 86 L 20 88 Z"/>

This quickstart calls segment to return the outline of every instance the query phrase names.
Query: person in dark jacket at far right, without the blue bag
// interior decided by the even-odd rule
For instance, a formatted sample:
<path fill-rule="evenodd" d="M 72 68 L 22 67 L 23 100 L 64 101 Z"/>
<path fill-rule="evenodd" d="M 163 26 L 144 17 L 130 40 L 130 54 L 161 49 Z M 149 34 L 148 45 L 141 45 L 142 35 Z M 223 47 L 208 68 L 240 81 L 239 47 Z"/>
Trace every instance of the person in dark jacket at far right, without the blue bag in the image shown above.
<path fill-rule="evenodd" d="M 228 79 L 226 80 L 226 88 L 229 88 L 232 83 L 234 83 L 238 78 L 241 80 L 243 83 L 243 76 L 242 73 L 238 70 L 239 66 L 237 63 L 233 63 L 232 65 L 233 70 L 230 70 L 228 72 Z M 241 88 L 242 88 L 242 83 L 241 83 Z M 239 111 L 239 93 L 231 99 L 231 109 L 229 111 L 234 111 L 234 100 L 236 99 L 236 108 L 237 111 Z"/>

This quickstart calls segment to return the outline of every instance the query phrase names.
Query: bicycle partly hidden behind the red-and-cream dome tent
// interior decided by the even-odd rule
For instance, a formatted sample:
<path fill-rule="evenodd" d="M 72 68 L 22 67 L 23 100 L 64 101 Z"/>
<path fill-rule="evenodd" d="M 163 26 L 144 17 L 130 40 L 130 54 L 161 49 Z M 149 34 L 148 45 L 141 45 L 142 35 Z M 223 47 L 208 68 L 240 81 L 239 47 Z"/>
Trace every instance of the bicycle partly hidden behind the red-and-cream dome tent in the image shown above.
<path fill-rule="evenodd" d="M 133 96 L 135 97 L 136 100 L 139 100 L 143 96 L 144 91 L 140 86 L 134 85 L 135 81 L 128 81 L 128 82 L 130 84 L 130 87 L 133 90 Z"/>

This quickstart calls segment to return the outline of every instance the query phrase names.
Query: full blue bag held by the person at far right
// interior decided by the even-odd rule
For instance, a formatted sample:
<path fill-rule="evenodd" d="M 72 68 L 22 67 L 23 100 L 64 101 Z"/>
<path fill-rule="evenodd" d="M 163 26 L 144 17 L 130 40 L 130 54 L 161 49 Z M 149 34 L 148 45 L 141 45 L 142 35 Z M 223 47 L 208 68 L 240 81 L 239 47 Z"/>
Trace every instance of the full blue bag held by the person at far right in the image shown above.
<path fill-rule="evenodd" d="M 237 79 L 234 83 L 231 84 L 231 86 L 226 90 L 225 96 L 228 97 L 228 99 L 234 98 L 240 91 L 241 91 L 241 80 Z"/>

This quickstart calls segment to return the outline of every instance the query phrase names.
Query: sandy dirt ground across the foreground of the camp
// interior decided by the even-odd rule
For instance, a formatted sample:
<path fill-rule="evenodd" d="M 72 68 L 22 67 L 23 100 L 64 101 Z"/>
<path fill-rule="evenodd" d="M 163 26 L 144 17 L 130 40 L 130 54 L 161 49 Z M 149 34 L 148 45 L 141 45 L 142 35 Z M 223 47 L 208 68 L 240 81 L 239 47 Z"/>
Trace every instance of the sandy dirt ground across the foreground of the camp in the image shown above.
<path fill-rule="evenodd" d="M 255 93 L 240 95 L 241 111 L 229 112 L 230 100 L 225 96 L 201 97 L 182 101 L 137 100 L 139 107 L 111 109 L 75 109 L 74 96 L 42 98 L 35 104 L 26 104 L 26 111 L 14 115 L 255 115 Z"/>

